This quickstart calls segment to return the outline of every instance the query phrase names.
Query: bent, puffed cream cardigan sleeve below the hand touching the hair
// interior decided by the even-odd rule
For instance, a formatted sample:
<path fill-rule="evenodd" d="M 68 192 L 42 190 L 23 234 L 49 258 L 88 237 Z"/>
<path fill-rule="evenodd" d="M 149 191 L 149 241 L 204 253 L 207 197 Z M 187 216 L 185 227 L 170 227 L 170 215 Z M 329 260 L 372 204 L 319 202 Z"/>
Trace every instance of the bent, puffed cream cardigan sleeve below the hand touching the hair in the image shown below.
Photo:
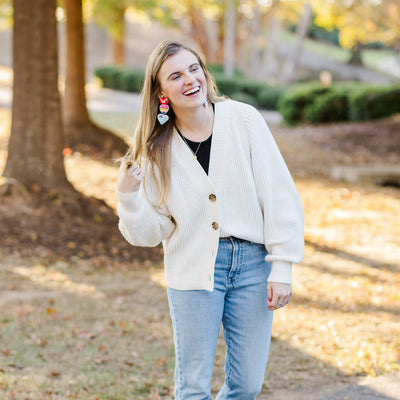
<path fill-rule="evenodd" d="M 175 229 L 163 205 L 157 209 L 146 197 L 143 185 L 137 192 L 117 191 L 119 230 L 133 246 L 154 247 L 167 239 Z"/>

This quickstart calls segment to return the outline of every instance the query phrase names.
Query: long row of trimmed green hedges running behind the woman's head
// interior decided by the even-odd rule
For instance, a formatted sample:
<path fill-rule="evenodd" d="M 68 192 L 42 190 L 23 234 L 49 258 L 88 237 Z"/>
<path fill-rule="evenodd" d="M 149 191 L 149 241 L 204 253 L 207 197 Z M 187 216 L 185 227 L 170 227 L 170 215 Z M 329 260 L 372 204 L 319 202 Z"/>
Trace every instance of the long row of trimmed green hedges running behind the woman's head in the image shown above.
<path fill-rule="evenodd" d="M 366 86 L 360 82 L 334 83 L 326 87 L 319 82 L 270 86 L 236 71 L 230 78 L 221 66 L 210 66 L 221 94 L 255 107 L 278 109 L 288 125 L 335 121 L 365 121 L 400 113 L 400 85 Z M 105 88 L 139 93 L 144 72 L 105 66 L 95 70 Z"/>

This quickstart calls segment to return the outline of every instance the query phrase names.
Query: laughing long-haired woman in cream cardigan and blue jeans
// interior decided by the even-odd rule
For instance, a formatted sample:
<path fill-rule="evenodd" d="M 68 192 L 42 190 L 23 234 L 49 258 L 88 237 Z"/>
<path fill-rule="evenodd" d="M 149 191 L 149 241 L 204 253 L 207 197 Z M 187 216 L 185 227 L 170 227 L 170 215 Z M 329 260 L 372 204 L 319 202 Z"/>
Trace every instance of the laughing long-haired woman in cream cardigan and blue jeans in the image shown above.
<path fill-rule="evenodd" d="M 217 399 L 255 399 L 273 310 L 289 302 L 291 263 L 303 256 L 299 196 L 261 115 L 218 97 L 192 49 L 162 42 L 142 95 L 117 210 L 132 245 L 163 243 L 175 398 L 211 399 L 222 323 L 226 377 Z"/>

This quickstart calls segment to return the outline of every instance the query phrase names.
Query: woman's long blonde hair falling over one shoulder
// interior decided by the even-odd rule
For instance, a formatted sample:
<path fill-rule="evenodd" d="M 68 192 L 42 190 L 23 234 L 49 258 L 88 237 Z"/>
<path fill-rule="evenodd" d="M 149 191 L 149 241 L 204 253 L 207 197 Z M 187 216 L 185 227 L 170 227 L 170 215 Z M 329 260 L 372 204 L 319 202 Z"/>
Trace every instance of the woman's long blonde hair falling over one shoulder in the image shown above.
<path fill-rule="evenodd" d="M 217 94 L 213 76 L 194 50 L 170 40 L 161 42 L 153 50 L 147 62 L 142 89 L 142 108 L 135 129 L 134 144 L 126 157 L 136 162 L 142 162 L 147 166 L 146 174 L 150 173 L 157 187 L 159 206 L 164 201 L 170 186 L 171 139 L 175 125 L 175 114 L 170 107 L 169 120 L 164 125 L 160 125 L 157 121 L 159 95 L 161 93 L 158 73 L 167 58 L 181 50 L 187 50 L 196 56 L 206 77 L 208 100 L 215 103 L 223 99 Z"/>

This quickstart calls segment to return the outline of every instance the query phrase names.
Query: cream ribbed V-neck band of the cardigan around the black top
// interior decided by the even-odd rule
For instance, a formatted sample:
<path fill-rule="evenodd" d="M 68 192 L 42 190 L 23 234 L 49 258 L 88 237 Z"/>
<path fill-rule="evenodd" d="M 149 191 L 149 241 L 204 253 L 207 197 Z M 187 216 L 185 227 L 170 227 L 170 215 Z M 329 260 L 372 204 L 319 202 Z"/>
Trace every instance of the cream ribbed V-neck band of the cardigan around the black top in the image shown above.
<path fill-rule="evenodd" d="M 174 128 L 171 143 L 171 162 L 178 162 L 194 182 L 199 192 L 219 188 L 223 184 L 225 167 L 225 146 L 227 135 L 227 109 L 229 101 L 215 103 L 214 127 L 211 141 L 210 164 L 208 175 L 197 160 L 193 159 L 193 153 Z M 211 187 L 210 187 L 211 186 Z"/>

